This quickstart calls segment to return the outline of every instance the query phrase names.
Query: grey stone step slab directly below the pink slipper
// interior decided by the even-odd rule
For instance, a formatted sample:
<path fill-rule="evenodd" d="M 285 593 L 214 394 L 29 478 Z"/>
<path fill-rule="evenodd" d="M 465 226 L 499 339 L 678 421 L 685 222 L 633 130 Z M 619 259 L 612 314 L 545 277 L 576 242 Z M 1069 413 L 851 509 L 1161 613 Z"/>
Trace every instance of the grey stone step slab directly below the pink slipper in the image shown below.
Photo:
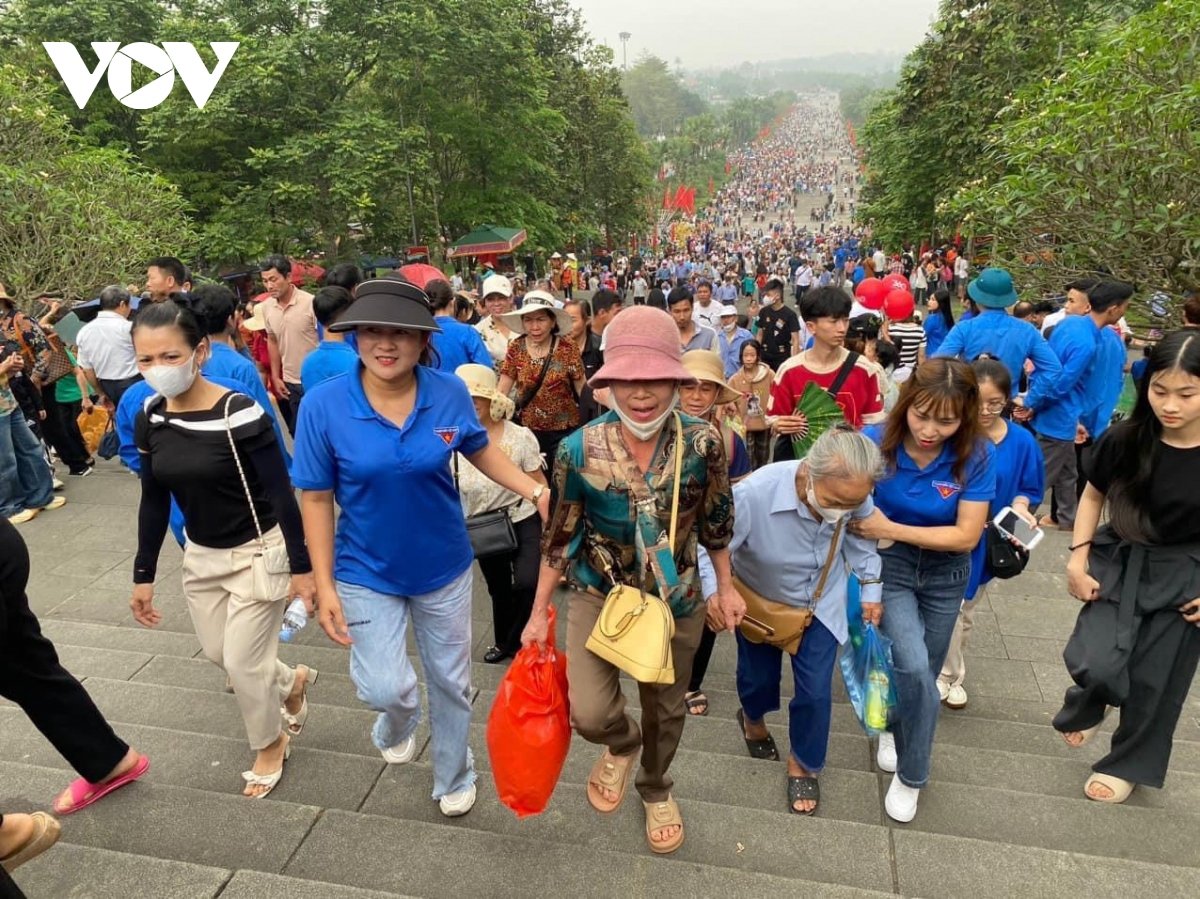
<path fill-rule="evenodd" d="M 64 839 L 131 855 L 280 874 L 322 814 L 313 805 L 275 796 L 257 802 L 155 783 L 152 774 L 151 760 L 146 778 L 65 819 Z M 68 780 L 60 769 L 0 762 L 5 811 L 47 809 Z"/>

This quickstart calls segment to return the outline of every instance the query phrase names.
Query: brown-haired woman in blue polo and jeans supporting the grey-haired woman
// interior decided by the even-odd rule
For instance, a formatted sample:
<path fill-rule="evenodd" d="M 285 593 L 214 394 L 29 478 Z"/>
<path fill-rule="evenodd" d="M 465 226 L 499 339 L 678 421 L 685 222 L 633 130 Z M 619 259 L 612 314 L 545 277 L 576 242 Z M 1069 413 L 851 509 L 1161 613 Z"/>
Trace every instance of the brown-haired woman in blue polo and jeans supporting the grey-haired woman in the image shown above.
<path fill-rule="evenodd" d="M 883 633 L 892 640 L 899 700 L 876 761 L 895 772 L 884 809 L 912 821 L 929 781 L 937 675 L 996 493 L 995 454 L 979 428 L 974 372 L 955 359 L 917 366 L 888 420 L 864 433 L 880 444 L 888 474 L 875 486 L 875 514 L 850 528 L 880 541 Z"/>

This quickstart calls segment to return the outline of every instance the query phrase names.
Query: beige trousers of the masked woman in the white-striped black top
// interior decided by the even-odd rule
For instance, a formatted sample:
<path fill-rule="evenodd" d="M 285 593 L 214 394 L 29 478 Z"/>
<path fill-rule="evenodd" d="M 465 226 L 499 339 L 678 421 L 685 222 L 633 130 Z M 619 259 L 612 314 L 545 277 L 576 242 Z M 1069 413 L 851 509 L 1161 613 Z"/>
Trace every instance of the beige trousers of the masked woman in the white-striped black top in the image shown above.
<path fill-rule="evenodd" d="M 282 546 L 278 527 L 264 534 L 269 546 Z M 251 559 L 258 540 L 232 550 L 188 541 L 184 547 L 184 595 L 204 655 L 229 675 L 246 737 L 253 750 L 265 749 L 283 729 L 280 706 L 292 693 L 295 670 L 277 658 L 280 627 L 288 603 L 288 575 L 276 575 L 277 599 L 251 599 Z"/>

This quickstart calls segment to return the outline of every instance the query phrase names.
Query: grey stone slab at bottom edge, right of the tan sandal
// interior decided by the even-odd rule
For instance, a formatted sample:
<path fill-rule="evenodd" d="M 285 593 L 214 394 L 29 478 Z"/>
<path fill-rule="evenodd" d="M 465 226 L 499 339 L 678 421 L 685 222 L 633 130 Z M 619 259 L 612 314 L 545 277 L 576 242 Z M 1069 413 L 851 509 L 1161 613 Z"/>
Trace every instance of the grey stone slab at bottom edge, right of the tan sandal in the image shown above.
<path fill-rule="evenodd" d="M 49 852 L 12 875 L 29 899 L 212 899 L 233 871 L 144 855 L 82 846 L 72 839 L 72 820 Z M 253 895 L 253 894 L 250 894 Z M 264 894 L 266 895 L 266 894 Z M 353 897 L 346 897 L 353 899 Z"/>

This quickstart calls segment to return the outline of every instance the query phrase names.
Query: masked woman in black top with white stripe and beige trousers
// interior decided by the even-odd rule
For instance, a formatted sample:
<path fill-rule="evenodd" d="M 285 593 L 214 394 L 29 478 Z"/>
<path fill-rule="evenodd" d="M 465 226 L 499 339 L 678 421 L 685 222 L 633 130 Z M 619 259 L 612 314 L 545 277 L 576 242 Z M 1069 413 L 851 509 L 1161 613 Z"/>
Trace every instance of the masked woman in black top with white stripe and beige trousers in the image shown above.
<path fill-rule="evenodd" d="M 301 597 L 310 615 L 313 607 L 300 510 L 266 412 L 200 374 L 210 347 L 190 310 L 172 301 L 144 308 L 133 348 L 156 395 L 134 427 L 142 504 L 130 605 L 143 625 L 160 622 L 155 568 L 174 495 L 187 531 L 187 609 L 204 654 L 229 676 L 258 753 L 242 773 L 244 792 L 262 798 L 283 773 L 317 679 L 316 670 L 290 669 L 276 654 L 288 598 Z"/>

